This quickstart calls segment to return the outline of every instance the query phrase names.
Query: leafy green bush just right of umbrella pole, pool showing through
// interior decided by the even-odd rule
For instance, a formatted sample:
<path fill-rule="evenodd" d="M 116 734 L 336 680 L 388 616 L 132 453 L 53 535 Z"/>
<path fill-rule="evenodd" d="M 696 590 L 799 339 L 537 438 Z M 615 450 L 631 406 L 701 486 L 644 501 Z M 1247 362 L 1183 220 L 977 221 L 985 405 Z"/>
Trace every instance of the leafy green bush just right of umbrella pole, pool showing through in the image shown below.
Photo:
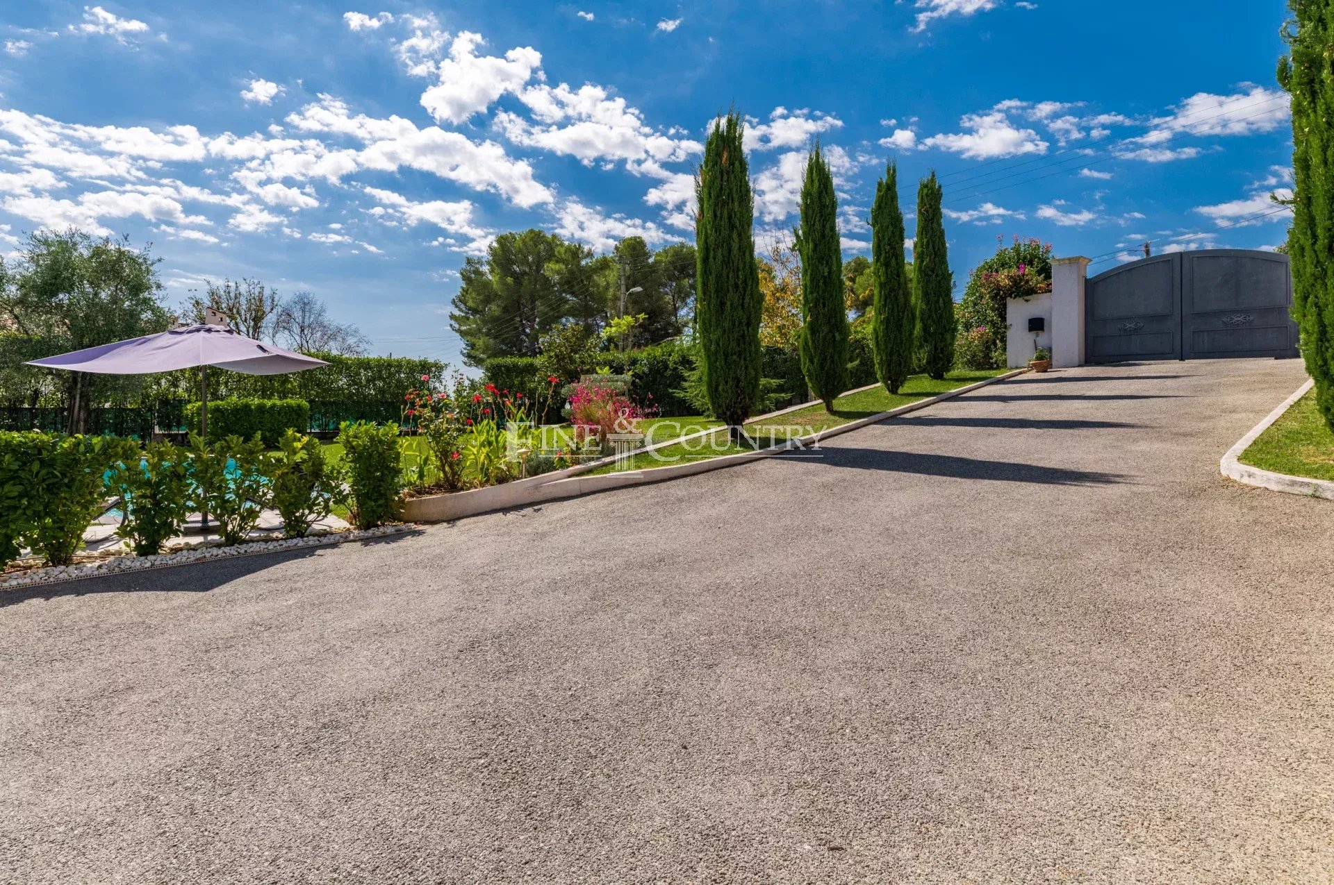
<path fill-rule="evenodd" d="M 217 521 L 224 544 L 240 544 L 272 501 L 273 457 L 259 433 L 249 440 L 228 436 L 212 445 L 196 435 L 191 442 L 195 502 Z"/>

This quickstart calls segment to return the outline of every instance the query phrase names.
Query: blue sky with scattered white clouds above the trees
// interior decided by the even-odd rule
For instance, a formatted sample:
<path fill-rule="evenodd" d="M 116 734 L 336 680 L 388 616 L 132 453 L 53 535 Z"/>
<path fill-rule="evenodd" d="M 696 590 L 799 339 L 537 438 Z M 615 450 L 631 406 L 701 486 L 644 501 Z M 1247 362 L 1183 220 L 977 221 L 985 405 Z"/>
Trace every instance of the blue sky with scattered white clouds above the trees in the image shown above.
<path fill-rule="evenodd" d="M 1113 12 L 1114 9 L 1114 12 Z M 458 361 L 458 268 L 499 231 L 691 239 L 704 127 L 752 117 L 756 228 L 830 148 L 847 256 L 899 164 L 946 191 L 956 279 L 996 236 L 1101 259 L 1273 248 L 1282 0 L 7 4 L 0 252 L 152 241 L 168 299 L 309 289 L 380 353 Z"/>

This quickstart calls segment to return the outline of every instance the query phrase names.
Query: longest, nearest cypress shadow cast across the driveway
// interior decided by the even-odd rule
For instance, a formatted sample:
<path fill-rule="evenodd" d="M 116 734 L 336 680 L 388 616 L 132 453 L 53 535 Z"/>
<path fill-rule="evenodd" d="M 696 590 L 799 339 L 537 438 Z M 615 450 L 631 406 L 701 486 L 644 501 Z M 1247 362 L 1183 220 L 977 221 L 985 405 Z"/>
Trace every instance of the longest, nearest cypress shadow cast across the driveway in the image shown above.
<path fill-rule="evenodd" d="M 786 457 L 786 456 L 778 456 Z M 812 464 L 851 468 L 858 470 L 887 470 L 890 473 L 916 473 L 918 476 L 947 476 L 956 480 L 995 480 L 999 482 L 1037 482 L 1041 485 L 1111 485 L 1129 482 L 1130 477 L 1098 470 L 1070 470 L 1041 464 L 1013 461 L 983 461 L 952 454 L 919 454 L 916 452 L 887 452 L 884 449 L 820 449 L 796 456 Z"/>

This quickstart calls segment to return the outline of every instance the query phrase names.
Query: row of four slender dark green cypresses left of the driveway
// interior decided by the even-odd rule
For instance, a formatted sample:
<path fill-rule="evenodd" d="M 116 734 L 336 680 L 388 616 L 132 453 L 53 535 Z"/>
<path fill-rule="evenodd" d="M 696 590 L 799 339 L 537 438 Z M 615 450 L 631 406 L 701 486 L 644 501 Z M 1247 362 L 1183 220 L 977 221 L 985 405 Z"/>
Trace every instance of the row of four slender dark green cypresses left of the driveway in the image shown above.
<path fill-rule="evenodd" d="M 714 415 L 732 428 L 734 437 L 739 437 L 740 425 L 759 399 L 763 305 L 743 131 L 735 111 L 714 123 L 695 183 L 702 377 Z M 898 169 L 891 164 L 876 185 L 871 208 L 872 343 L 876 377 L 891 393 L 899 392 L 918 360 L 936 380 L 954 363 L 954 283 L 940 196 L 932 172 L 918 188 L 915 275 L 910 287 Z M 838 195 L 819 144 L 806 163 L 796 248 L 802 257 L 802 372 L 811 392 L 832 408 L 847 387 L 848 323 Z"/>

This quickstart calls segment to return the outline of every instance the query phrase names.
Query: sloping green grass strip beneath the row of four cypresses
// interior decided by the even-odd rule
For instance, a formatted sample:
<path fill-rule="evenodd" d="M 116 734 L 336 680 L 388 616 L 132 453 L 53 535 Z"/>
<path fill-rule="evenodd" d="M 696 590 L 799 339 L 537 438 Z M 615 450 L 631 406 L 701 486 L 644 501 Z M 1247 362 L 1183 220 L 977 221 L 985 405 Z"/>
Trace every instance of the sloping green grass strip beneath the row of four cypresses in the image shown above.
<path fill-rule="evenodd" d="M 918 400 L 924 400 L 940 393 L 948 393 L 950 391 L 956 391 L 960 387 L 967 387 L 970 384 L 976 384 L 978 381 L 992 379 L 998 375 L 1005 375 L 1009 371 L 1010 369 L 950 372 L 944 376 L 943 381 L 932 381 L 924 375 L 914 375 L 907 380 L 896 396 L 890 396 L 883 387 L 875 387 L 870 391 L 862 391 L 860 393 L 846 393 L 840 396 L 834 400 L 832 412 L 826 411 L 823 405 L 814 405 L 796 412 L 788 412 L 787 415 L 774 419 L 772 421 L 755 423 L 752 420 L 746 425 L 746 428 L 752 437 L 760 437 L 758 448 L 764 449 L 771 445 L 784 442 L 790 437 L 807 436 L 819 431 L 828 431 L 830 428 L 867 419 L 872 415 L 880 415 L 882 412 L 888 412 L 891 409 L 908 405 L 910 403 L 916 403 Z M 676 420 L 686 421 L 684 419 Z M 690 421 L 687 421 L 687 424 L 690 424 Z M 712 424 L 719 427 L 716 421 Z M 666 437 L 663 437 L 660 432 L 655 433 L 656 441 L 663 439 Z M 687 458 L 699 460 L 700 457 L 722 457 L 724 454 L 754 452 L 755 448 L 756 446 L 750 444 L 732 444 L 727 441 L 722 433 L 715 433 L 703 440 L 668 445 L 652 453 L 636 454 L 630 460 L 627 469 L 647 470 L 655 466 L 679 464 Z M 596 476 L 600 473 L 611 473 L 615 469 L 616 465 L 608 464 L 598 468 L 596 470 L 590 470 L 590 474 Z"/>

